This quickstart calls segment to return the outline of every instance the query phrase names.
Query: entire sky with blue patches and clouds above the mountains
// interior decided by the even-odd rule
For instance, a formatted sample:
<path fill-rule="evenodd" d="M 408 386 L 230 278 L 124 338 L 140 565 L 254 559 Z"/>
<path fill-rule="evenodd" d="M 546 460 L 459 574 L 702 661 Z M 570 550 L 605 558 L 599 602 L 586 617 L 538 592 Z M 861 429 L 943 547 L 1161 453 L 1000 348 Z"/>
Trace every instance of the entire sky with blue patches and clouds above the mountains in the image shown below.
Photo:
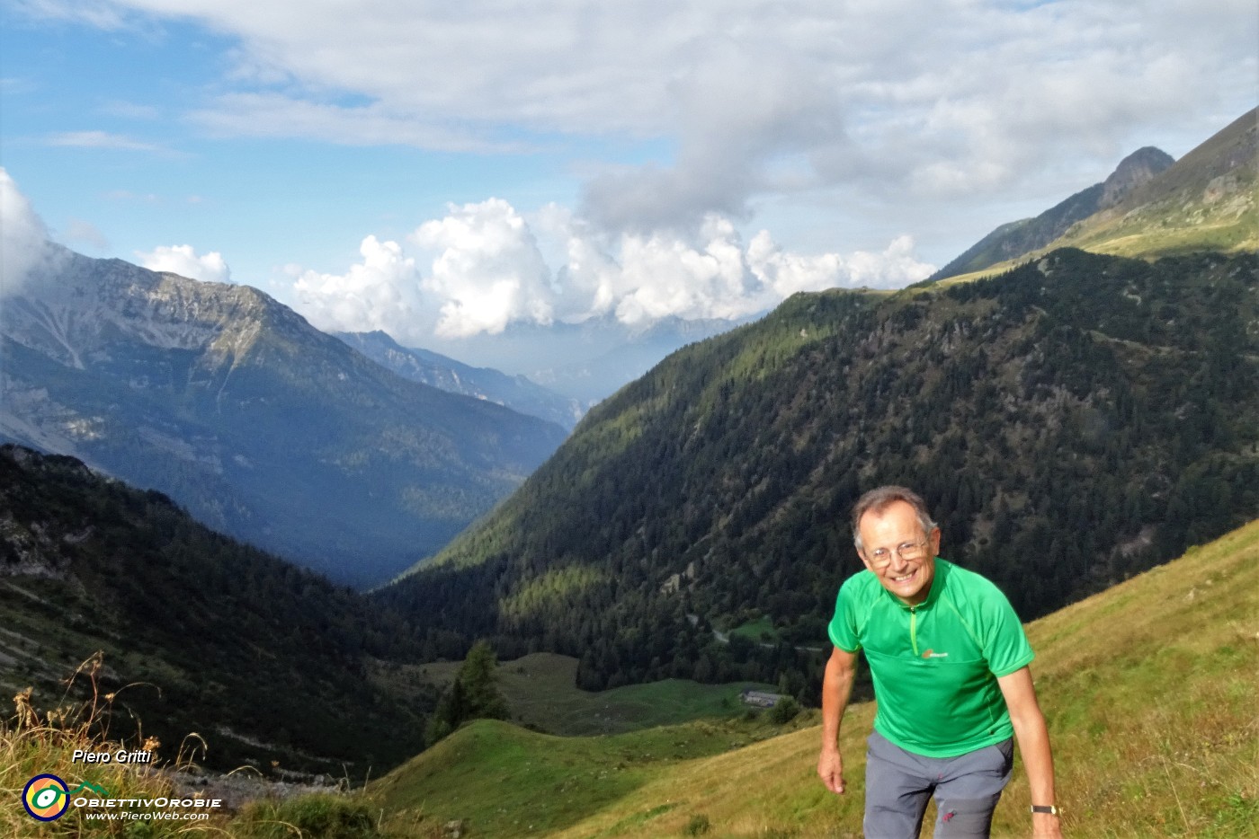
<path fill-rule="evenodd" d="M 54 239 L 446 350 L 903 286 L 1259 98 L 1251 0 L 0 8 Z"/>

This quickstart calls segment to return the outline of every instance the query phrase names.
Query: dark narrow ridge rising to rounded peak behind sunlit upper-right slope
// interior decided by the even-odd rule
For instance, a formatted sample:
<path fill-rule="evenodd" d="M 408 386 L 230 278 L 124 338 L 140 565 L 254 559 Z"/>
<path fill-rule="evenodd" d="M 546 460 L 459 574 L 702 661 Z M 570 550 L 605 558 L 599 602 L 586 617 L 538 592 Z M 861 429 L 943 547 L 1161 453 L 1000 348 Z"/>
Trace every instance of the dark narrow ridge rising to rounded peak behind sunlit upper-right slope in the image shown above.
<path fill-rule="evenodd" d="M 1133 190 L 1148 182 L 1171 166 L 1171 155 L 1147 146 L 1123 158 L 1119 166 L 1102 184 L 1076 192 L 1061 204 L 1045 210 L 1035 219 L 1021 219 L 1003 224 L 968 248 L 934 274 L 930 281 L 982 270 L 1007 259 L 1016 259 L 1037 248 L 1044 248 L 1099 210 L 1113 208 Z"/>

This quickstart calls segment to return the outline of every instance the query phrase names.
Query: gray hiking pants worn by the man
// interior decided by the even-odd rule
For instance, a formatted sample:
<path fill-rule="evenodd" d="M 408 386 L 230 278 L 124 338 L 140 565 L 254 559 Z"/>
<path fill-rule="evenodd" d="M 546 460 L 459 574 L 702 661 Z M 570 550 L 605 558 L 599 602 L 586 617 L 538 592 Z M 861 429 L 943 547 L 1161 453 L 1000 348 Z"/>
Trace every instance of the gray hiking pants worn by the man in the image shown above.
<path fill-rule="evenodd" d="M 935 839 L 987 839 L 1010 782 L 1013 742 L 957 757 L 923 757 L 879 732 L 866 740 L 866 839 L 917 839 L 935 795 Z"/>

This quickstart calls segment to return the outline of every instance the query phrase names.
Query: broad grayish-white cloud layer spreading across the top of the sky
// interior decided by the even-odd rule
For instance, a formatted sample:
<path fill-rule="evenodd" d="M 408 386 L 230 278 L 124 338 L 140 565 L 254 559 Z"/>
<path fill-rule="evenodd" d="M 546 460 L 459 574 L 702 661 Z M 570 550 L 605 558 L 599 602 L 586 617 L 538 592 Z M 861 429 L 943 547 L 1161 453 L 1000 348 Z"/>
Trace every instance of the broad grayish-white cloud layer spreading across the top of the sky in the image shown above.
<path fill-rule="evenodd" d="M 886 201 L 1056 190 L 1152 137 L 1192 143 L 1253 104 L 1253 0 L 23 0 L 102 29 L 195 20 L 235 38 L 222 136 L 596 152 L 583 215 L 694 235 L 762 195 L 860 186 Z M 101 132 L 59 138 L 136 148 Z M 1092 166 L 1097 164 L 1097 166 Z M 1080 184 L 1081 186 L 1084 184 Z M 1059 197 L 1065 197 L 1060 195 Z M 929 210 L 928 210 L 929 211 Z"/>

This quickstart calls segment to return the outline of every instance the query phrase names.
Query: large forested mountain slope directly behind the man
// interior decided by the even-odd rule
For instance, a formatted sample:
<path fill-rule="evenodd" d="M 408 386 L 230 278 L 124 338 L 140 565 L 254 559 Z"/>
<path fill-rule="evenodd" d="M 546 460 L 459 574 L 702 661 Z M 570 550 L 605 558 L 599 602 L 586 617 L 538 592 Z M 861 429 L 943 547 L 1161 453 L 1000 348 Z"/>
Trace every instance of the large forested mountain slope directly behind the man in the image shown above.
<path fill-rule="evenodd" d="M 847 514 L 917 487 L 944 556 L 1032 619 L 1259 514 L 1256 258 L 1055 252 L 896 294 L 798 294 L 598 405 L 437 562 L 376 594 L 426 655 L 580 657 L 579 684 L 805 696 Z M 763 619 L 762 643 L 714 629 Z M 724 638 L 724 636 L 723 636 Z M 797 648 L 797 649 L 793 649 Z"/>

